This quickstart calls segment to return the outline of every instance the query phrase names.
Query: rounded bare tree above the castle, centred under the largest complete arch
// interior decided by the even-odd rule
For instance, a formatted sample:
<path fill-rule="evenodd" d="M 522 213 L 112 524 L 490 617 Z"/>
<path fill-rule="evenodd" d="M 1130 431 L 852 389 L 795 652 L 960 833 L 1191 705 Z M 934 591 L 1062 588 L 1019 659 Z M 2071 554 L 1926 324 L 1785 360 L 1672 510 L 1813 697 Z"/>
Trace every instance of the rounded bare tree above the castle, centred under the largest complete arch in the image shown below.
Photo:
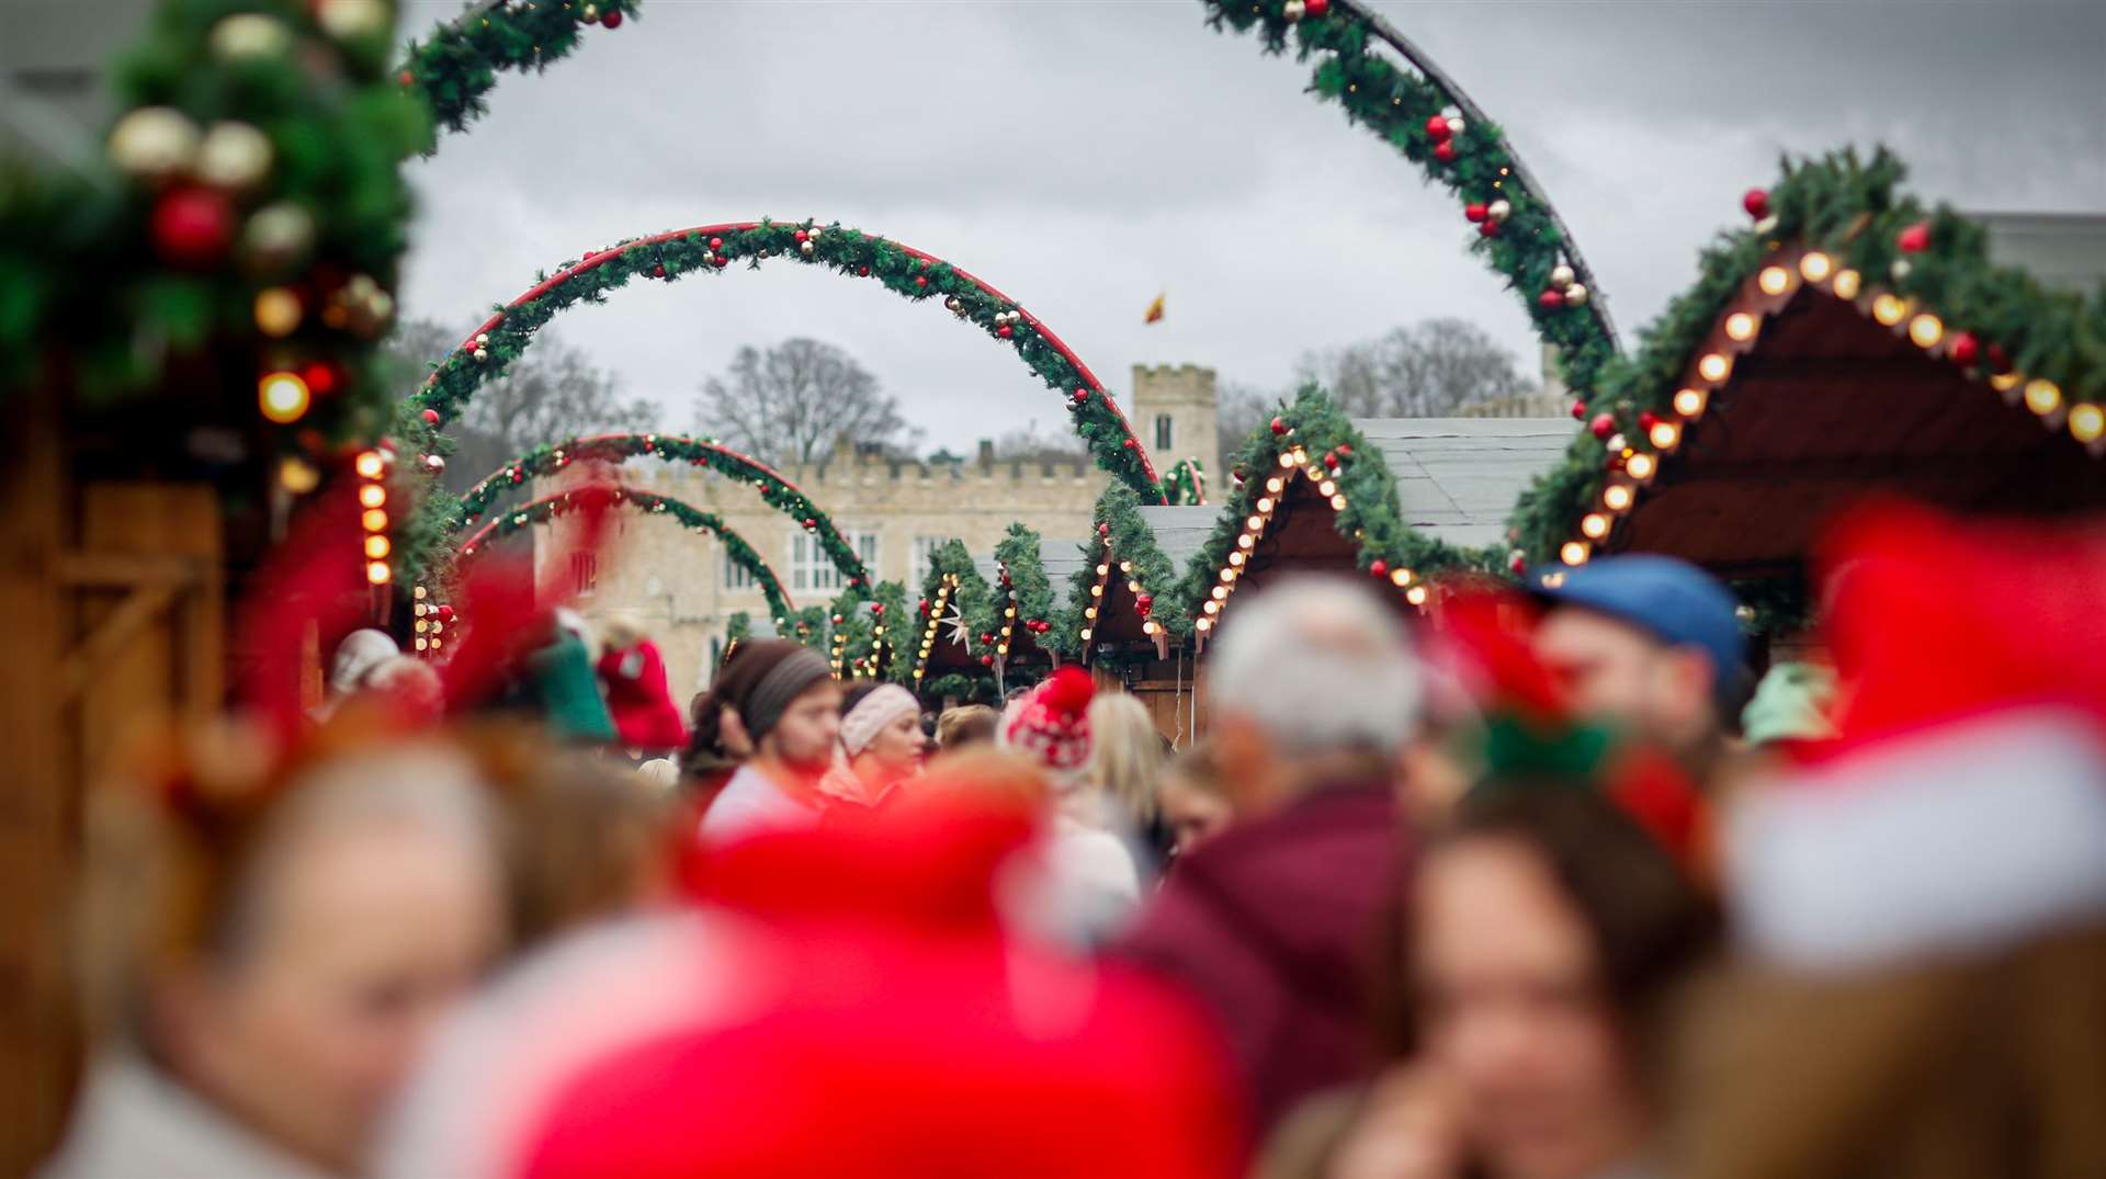
<path fill-rule="evenodd" d="M 887 455 L 920 436 L 861 362 L 804 337 L 767 352 L 741 347 L 729 371 L 701 385 L 695 415 L 706 432 L 773 463 L 811 463 L 842 434 Z"/>

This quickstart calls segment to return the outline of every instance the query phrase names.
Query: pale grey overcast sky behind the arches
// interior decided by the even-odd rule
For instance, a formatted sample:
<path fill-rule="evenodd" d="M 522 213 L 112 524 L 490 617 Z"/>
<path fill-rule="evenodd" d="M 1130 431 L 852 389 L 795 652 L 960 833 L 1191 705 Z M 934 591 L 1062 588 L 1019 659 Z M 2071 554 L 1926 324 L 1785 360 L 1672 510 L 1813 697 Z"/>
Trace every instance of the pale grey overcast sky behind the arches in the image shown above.
<path fill-rule="evenodd" d="M 459 11 L 404 4 L 404 29 Z M 1780 152 L 1885 141 L 1975 211 L 2106 213 L 2106 2 L 1377 4 L 1508 131 L 1626 345 L 1744 221 Z M 1019 299 L 1127 394 L 1131 364 L 1285 383 L 1310 347 L 1428 316 L 1533 364 L 1455 202 L 1308 65 L 1198 0 L 647 0 L 411 166 L 404 309 L 468 331 L 537 267 L 623 236 L 838 219 Z M 1169 316 L 1144 326 L 1158 291 Z M 1013 352 L 796 263 L 632 284 L 556 331 L 693 425 L 695 385 L 794 335 L 870 366 L 929 444 L 1064 423 Z"/>

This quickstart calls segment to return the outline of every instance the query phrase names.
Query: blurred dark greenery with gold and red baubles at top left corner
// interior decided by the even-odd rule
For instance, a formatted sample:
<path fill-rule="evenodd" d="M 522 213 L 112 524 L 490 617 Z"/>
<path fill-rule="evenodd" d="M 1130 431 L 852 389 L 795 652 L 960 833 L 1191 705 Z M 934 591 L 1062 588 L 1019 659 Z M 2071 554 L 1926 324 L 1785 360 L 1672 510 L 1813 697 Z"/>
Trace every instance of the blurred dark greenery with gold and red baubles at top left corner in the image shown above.
<path fill-rule="evenodd" d="M 335 29 L 307 4 L 236 8 L 156 6 L 82 171 L 0 162 L 0 400 L 48 381 L 240 421 L 289 371 L 312 408 L 286 442 L 333 457 L 388 421 L 371 360 L 406 242 L 398 164 L 430 122 L 388 78 L 385 8 Z M 265 335 L 259 297 L 297 301 L 293 326 Z"/>

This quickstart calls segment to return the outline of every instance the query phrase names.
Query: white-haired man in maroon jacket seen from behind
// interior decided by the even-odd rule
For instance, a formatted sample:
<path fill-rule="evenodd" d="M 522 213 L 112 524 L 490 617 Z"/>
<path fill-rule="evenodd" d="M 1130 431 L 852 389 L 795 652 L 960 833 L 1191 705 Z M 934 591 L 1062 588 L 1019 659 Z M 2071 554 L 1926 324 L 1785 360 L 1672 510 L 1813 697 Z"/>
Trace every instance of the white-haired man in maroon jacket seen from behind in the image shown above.
<path fill-rule="evenodd" d="M 1377 1065 L 1365 983 L 1405 859 L 1392 787 L 1419 665 L 1363 585 L 1283 581 L 1238 598 L 1207 701 L 1236 821 L 1179 861 L 1114 954 L 1215 1015 L 1264 1141 L 1297 1101 Z"/>

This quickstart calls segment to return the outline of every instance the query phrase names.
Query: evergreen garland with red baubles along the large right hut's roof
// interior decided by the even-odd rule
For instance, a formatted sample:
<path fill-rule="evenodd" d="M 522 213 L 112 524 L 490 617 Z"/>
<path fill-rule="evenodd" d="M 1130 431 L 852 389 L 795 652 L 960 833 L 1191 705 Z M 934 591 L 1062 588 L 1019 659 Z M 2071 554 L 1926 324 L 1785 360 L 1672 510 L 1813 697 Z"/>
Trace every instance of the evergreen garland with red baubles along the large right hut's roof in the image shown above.
<path fill-rule="evenodd" d="M 1971 333 L 1984 368 L 2007 356 L 2011 371 L 2053 381 L 2066 402 L 2106 402 L 2106 288 L 2091 295 L 2049 291 L 2030 274 L 1988 261 L 1988 234 L 1950 206 L 1927 208 L 1900 194 L 1906 166 L 1885 147 L 1870 160 L 1855 149 L 1784 160 L 1767 194 L 1767 219 L 1723 232 L 1702 255 L 1697 280 L 1641 333 L 1634 354 L 1611 364 L 1594 406 L 1615 417 L 1634 451 L 1653 451 L 1641 413 L 1670 417 L 1691 358 L 1727 314 L 1742 286 L 1786 242 L 1826 251 L 1834 265 L 1864 276 L 1864 293 L 1891 291 L 1935 312 L 1946 333 Z M 1923 229 L 1923 248 L 1904 251 L 1906 229 Z M 1982 396 L 1992 396 L 1986 387 Z M 1594 408 L 1590 406 L 1590 408 Z M 1702 429 L 1691 423 L 1683 438 Z M 1609 480 L 1609 455 L 1582 427 L 1565 461 L 1535 478 L 1512 516 L 1516 556 L 1556 560 L 1594 509 Z"/>

